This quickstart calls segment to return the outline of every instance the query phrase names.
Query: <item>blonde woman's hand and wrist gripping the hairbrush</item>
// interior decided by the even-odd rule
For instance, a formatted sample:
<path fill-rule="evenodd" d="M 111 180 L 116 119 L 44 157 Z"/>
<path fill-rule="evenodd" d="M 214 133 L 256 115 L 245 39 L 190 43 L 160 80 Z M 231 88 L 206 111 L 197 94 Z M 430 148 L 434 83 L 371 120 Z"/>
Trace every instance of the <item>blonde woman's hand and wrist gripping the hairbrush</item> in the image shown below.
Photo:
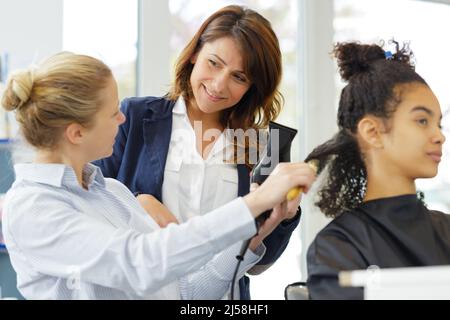
<path fill-rule="evenodd" d="M 303 192 L 308 192 L 315 179 L 316 172 L 307 163 L 280 163 L 259 188 L 243 199 L 256 218 L 285 201 L 292 188 L 302 187 Z"/>

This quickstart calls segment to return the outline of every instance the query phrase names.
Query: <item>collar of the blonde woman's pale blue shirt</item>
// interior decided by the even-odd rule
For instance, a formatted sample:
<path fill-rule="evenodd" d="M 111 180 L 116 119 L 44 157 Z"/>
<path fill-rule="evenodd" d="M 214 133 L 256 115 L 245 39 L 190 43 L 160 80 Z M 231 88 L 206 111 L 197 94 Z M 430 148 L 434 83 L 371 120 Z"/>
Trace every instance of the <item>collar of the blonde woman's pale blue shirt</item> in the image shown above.
<path fill-rule="evenodd" d="M 14 166 L 16 180 L 27 180 L 55 187 L 80 187 L 73 168 L 59 163 L 22 163 Z M 105 185 L 103 174 L 97 166 L 86 164 L 83 169 L 83 180 L 90 186 L 94 181 Z"/>

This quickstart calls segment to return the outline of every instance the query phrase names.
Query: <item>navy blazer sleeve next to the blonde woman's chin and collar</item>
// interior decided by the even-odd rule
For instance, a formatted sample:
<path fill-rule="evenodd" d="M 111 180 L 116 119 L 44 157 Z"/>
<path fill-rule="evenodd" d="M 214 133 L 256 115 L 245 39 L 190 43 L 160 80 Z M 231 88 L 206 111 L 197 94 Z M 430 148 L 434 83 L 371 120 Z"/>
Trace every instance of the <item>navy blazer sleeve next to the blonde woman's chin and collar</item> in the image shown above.
<path fill-rule="evenodd" d="M 122 101 L 120 110 L 128 119 L 128 99 Z M 105 177 L 117 179 L 120 166 L 122 164 L 122 158 L 127 144 L 129 129 L 129 121 L 125 121 L 119 126 L 119 132 L 116 136 L 116 141 L 113 147 L 113 153 L 108 158 L 95 160 L 93 164 L 98 166 Z"/>

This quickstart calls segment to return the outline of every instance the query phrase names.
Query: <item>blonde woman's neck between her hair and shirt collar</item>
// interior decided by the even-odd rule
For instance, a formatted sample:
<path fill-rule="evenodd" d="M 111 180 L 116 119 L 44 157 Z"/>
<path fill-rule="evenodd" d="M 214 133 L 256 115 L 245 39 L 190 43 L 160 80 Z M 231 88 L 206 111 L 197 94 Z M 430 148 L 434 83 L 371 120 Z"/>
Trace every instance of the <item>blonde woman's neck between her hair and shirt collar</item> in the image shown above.
<path fill-rule="evenodd" d="M 77 157 L 76 153 L 61 152 L 59 150 L 39 150 L 34 159 L 35 163 L 58 163 L 73 168 L 78 183 L 82 188 L 83 184 L 83 168 L 86 162 Z"/>

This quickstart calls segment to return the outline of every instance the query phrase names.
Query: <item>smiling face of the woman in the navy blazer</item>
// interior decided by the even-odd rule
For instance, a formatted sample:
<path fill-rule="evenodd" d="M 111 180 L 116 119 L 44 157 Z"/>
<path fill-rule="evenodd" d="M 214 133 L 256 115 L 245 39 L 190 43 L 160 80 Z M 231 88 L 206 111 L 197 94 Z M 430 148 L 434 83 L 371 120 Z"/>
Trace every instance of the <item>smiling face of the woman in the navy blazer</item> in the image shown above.
<path fill-rule="evenodd" d="M 239 46 L 232 38 L 207 42 L 191 59 L 190 105 L 208 114 L 236 105 L 250 88 Z"/>

